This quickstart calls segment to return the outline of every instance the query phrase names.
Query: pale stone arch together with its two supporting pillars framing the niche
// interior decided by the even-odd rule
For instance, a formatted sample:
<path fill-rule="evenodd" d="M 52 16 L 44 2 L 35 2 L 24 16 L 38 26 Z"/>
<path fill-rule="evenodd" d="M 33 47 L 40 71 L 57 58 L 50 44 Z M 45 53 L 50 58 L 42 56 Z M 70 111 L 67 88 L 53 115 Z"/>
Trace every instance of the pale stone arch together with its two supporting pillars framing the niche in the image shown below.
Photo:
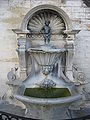
<path fill-rule="evenodd" d="M 72 77 L 72 60 L 73 60 L 73 49 L 74 49 L 74 38 L 75 34 L 77 34 L 78 30 L 72 30 L 72 24 L 71 20 L 68 17 L 68 15 L 60 8 L 54 6 L 54 5 L 39 5 L 37 7 L 34 7 L 31 9 L 24 17 L 20 29 L 14 29 L 13 31 L 18 35 L 18 56 L 19 56 L 19 64 L 20 64 L 20 76 L 21 79 L 24 80 L 28 74 L 30 74 L 31 70 L 31 58 L 28 55 L 28 48 L 30 47 L 37 47 L 44 44 L 43 39 L 40 40 L 35 37 L 34 40 L 27 37 L 27 34 L 30 33 L 30 31 L 27 30 L 27 26 L 29 21 L 33 18 L 35 13 L 38 13 L 39 11 L 48 10 L 48 11 L 54 11 L 55 13 L 60 16 L 61 20 L 64 23 L 65 29 L 63 30 L 64 35 L 66 37 L 61 37 L 60 34 L 56 37 L 54 40 L 51 39 L 50 44 L 54 45 L 58 48 L 66 48 L 67 54 L 66 54 L 66 75 L 69 79 L 73 79 Z M 30 58 L 30 59 L 29 59 Z M 38 67 L 37 67 L 38 68 Z M 59 66 L 60 68 L 60 66 Z M 34 68 L 33 68 L 34 69 Z M 58 72 L 59 73 L 59 72 Z"/>

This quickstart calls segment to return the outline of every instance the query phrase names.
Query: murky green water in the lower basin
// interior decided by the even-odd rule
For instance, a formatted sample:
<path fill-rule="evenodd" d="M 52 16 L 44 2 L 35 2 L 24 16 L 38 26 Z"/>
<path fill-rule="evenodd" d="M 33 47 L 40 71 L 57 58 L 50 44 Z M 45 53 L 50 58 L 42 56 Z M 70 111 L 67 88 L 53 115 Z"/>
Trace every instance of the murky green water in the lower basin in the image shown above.
<path fill-rule="evenodd" d="M 35 98 L 61 98 L 71 96 L 67 88 L 26 88 L 24 95 Z"/>

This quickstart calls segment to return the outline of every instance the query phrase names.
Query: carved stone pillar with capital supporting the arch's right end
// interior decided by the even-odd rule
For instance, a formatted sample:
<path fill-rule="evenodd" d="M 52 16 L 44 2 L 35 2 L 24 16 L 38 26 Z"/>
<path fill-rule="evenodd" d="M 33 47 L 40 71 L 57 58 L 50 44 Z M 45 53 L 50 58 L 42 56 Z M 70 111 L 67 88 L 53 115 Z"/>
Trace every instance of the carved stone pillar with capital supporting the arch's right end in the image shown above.
<path fill-rule="evenodd" d="M 70 81 L 73 80 L 73 71 L 72 71 L 72 65 L 73 65 L 73 55 L 74 55 L 74 40 L 75 40 L 75 35 L 79 33 L 79 30 L 73 30 L 73 31 L 65 31 L 67 34 L 66 38 L 66 76 L 70 79 Z"/>

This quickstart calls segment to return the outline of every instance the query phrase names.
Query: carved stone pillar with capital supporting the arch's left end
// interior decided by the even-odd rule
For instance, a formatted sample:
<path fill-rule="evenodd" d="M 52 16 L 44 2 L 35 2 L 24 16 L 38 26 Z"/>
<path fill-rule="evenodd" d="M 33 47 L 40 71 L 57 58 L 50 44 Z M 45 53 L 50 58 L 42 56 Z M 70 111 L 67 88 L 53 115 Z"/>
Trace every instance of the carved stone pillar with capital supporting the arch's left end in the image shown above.
<path fill-rule="evenodd" d="M 19 67 L 20 67 L 20 79 L 24 80 L 27 76 L 26 68 L 26 35 L 27 31 L 13 30 L 17 34 L 18 40 L 18 57 L 19 57 Z"/>

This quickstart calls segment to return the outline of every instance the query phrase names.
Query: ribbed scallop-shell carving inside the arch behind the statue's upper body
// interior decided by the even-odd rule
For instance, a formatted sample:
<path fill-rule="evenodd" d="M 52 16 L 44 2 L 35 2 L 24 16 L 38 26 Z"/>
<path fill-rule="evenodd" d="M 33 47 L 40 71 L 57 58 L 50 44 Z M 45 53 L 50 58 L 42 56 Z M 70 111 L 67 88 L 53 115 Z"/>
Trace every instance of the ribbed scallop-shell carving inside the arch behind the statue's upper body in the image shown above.
<path fill-rule="evenodd" d="M 31 34 L 38 34 L 45 25 L 45 21 L 50 21 L 52 34 L 59 34 L 65 30 L 65 23 L 61 16 L 53 10 L 40 10 L 36 12 L 28 22 L 27 29 Z"/>

